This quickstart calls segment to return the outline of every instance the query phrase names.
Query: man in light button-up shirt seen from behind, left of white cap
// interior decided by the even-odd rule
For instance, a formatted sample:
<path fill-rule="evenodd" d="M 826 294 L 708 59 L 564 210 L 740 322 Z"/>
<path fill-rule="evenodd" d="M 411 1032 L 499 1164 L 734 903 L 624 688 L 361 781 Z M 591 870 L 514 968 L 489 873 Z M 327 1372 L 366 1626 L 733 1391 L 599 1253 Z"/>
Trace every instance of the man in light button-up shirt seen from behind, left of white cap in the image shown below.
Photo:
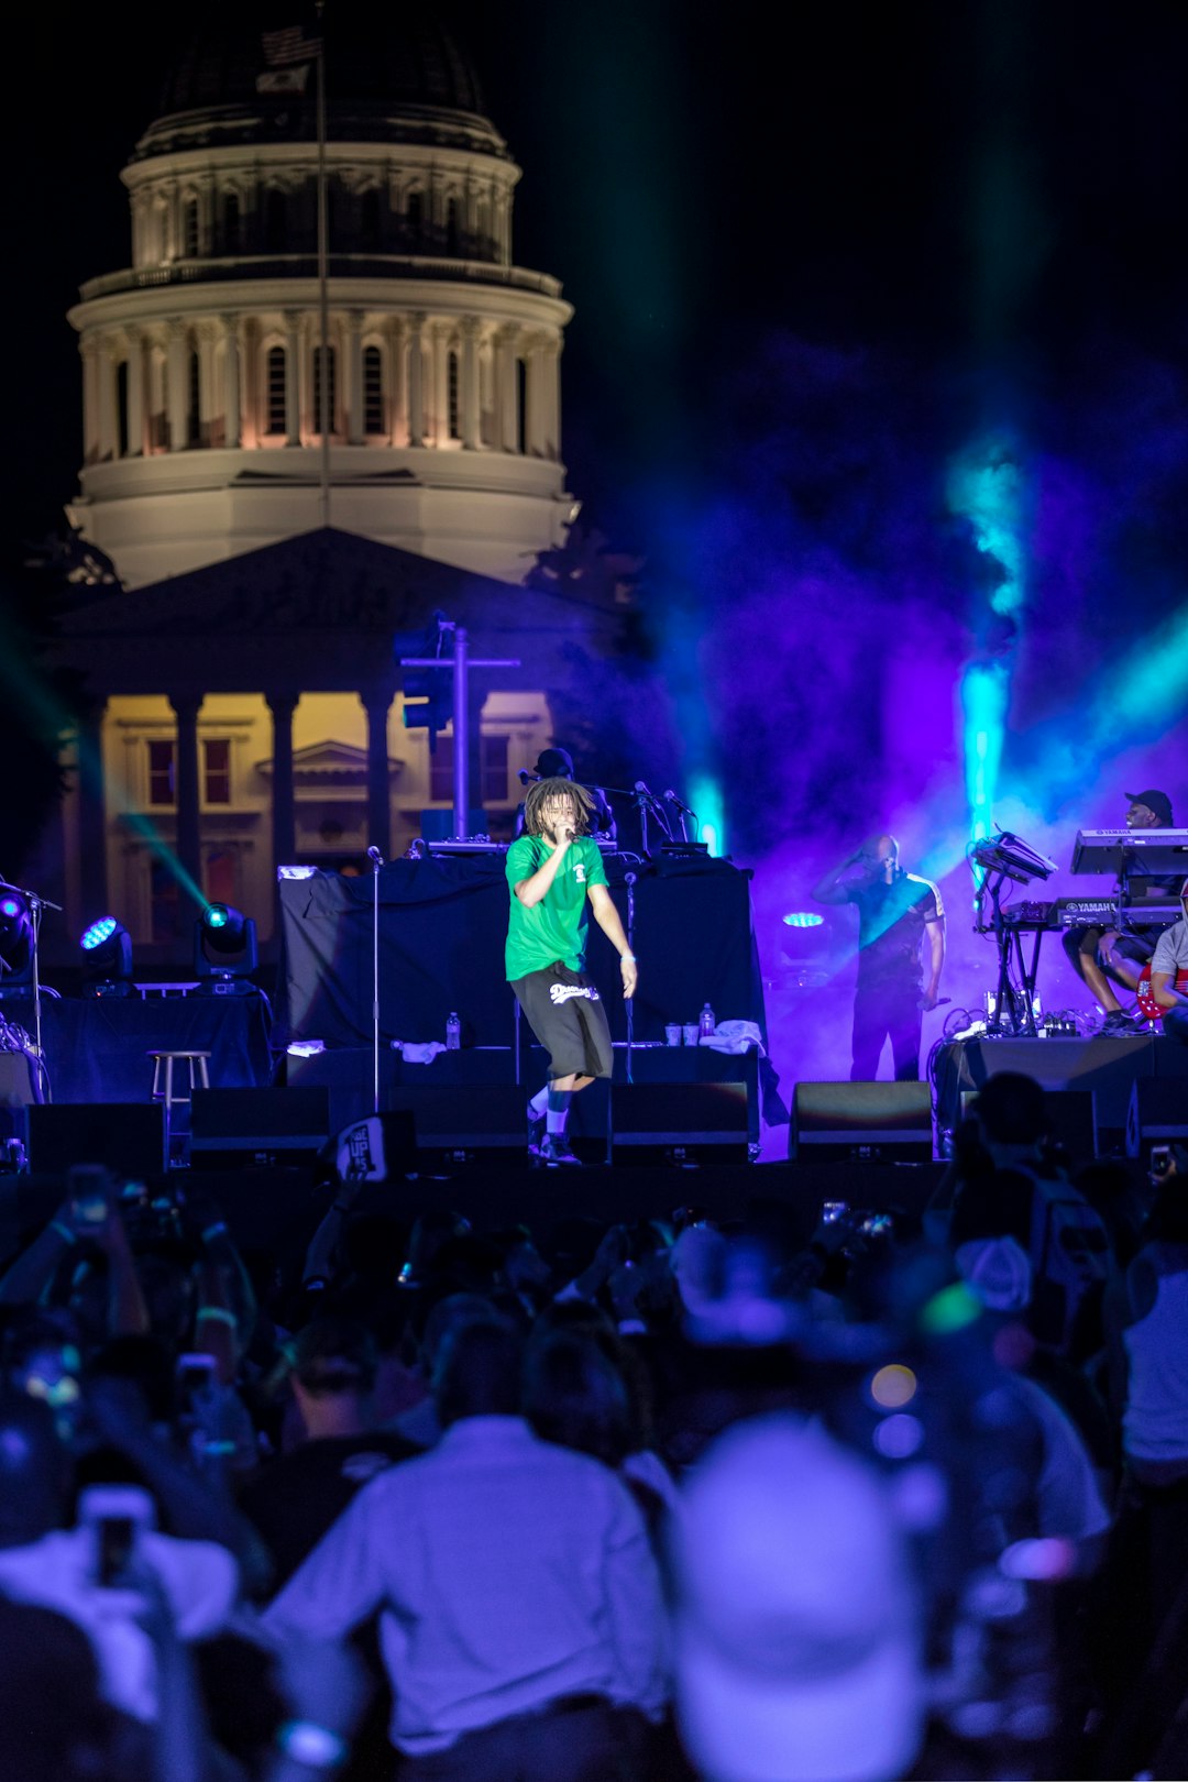
<path fill-rule="evenodd" d="M 264 1614 L 340 1638 L 379 1611 L 401 1782 L 631 1775 L 664 1707 L 643 1516 L 598 1461 L 531 1433 L 518 1374 L 506 1324 L 454 1331 L 438 1445 L 367 1484 Z"/>

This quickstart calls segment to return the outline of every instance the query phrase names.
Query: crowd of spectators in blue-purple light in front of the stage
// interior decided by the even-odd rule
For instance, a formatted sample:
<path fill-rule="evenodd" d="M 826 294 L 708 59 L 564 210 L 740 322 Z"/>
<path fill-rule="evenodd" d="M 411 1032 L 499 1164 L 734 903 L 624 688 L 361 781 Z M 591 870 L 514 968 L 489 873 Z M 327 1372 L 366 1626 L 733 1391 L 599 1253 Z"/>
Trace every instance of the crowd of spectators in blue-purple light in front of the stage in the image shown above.
<path fill-rule="evenodd" d="M 281 1253 L 80 1164 L 0 1276 L 0 1775 L 1183 1775 L 1188 1155 L 1047 1128 L 536 1230 L 326 1165 Z"/>

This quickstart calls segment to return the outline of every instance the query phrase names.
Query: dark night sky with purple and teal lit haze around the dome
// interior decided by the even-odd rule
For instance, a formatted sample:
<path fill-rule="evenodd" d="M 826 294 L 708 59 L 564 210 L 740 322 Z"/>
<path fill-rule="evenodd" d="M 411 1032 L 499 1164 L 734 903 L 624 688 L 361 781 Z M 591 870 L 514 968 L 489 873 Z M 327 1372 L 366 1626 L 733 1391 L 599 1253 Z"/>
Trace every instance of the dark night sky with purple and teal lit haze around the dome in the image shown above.
<path fill-rule="evenodd" d="M 1184 822 L 1188 9 L 451 16 L 524 169 L 517 260 L 575 305 L 570 488 L 648 558 L 654 684 L 611 716 L 654 784 L 721 791 L 761 920 L 878 825 L 969 902 L 962 700 L 1010 551 L 962 463 L 1022 560 L 996 820 L 1062 866 L 1124 789 Z M 36 14 L 7 110 L 23 536 L 75 488 L 64 312 L 126 264 L 119 168 L 185 36 L 141 20 Z"/>

